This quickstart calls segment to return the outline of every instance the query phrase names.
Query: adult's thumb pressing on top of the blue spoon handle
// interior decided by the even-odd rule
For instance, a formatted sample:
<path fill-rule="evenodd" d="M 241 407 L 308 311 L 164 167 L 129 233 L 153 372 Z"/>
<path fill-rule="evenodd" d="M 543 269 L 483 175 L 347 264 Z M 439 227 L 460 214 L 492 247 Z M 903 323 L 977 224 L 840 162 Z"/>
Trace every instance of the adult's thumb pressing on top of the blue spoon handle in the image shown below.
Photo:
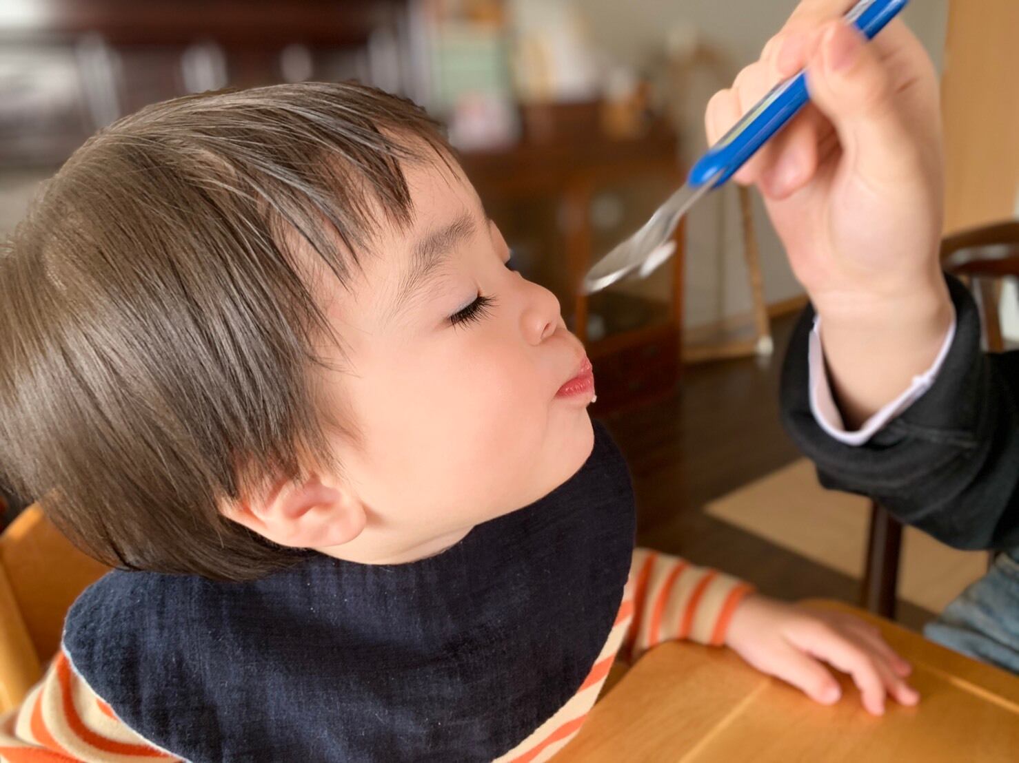
<path fill-rule="evenodd" d="M 915 172 L 916 151 L 896 110 L 891 72 L 856 27 L 841 20 L 825 25 L 807 63 L 807 86 L 864 179 L 897 181 Z"/>

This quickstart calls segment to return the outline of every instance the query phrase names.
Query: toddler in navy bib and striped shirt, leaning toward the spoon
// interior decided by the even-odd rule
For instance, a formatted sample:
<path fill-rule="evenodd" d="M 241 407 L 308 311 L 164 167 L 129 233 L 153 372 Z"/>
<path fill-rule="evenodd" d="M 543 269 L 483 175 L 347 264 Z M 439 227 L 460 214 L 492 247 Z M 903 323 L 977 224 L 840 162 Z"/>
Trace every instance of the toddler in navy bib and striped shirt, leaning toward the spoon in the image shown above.
<path fill-rule="evenodd" d="M 666 639 L 916 702 L 862 622 L 635 551 L 593 395 L 406 101 L 287 84 L 103 130 L 0 259 L 0 459 L 117 569 L 0 756 L 544 760 Z"/>

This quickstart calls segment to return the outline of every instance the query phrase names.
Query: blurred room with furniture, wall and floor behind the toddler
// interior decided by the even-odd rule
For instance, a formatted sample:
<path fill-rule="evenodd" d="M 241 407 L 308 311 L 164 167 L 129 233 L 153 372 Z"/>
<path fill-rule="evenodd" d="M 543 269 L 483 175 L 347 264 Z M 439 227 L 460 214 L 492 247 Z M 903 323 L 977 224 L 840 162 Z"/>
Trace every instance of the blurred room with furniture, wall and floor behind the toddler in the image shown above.
<path fill-rule="evenodd" d="M 853 600 L 867 508 L 822 492 L 779 425 L 779 360 L 805 298 L 755 192 L 707 197 L 646 281 L 576 296 L 588 265 L 682 183 L 708 98 L 795 5 L 0 0 L 0 234 L 90 134 L 146 104 L 306 79 L 403 94 L 447 125 L 515 266 L 587 344 L 595 413 L 634 470 L 639 540 L 768 593 Z M 945 74 L 950 229 L 1016 210 L 1016 5 L 914 0 L 904 14 Z M 1016 315 L 1003 322 L 1019 335 Z M 31 497 L 9 496 L 7 519 Z M 948 588 L 909 584 L 908 624 L 982 562 L 932 569 L 945 565 L 960 570 Z"/>

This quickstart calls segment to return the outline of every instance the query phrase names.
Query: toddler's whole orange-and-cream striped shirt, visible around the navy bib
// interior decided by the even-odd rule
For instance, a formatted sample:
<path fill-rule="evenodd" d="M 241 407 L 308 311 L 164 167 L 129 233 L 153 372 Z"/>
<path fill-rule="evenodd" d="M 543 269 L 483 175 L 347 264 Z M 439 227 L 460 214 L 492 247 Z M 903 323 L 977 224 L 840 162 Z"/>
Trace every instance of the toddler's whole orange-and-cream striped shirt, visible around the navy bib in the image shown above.
<path fill-rule="evenodd" d="M 718 646 L 751 587 L 676 556 L 637 548 L 614 625 L 577 693 L 498 761 L 551 758 L 580 730 L 616 659 L 633 662 L 676 639 Z M 177 760 L 130 729 L 73 669 L 61 649 L 19 708 L 0 719 L 0 761 Z"/>

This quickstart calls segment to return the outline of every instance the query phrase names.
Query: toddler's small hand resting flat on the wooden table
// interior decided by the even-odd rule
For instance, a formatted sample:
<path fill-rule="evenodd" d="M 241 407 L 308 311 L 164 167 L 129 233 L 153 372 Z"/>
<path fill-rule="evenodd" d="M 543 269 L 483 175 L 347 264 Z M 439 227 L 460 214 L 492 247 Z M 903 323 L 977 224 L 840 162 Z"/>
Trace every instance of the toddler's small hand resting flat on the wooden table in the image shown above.
<path fill-rule="evenodd" d="M 821 660 L 853 677 L 864 708 L 874 715 L 884 712 L 886 694 L 903 705 L 919 699 L 904 680 L 909 663 L 876 628 L 842 612 L 812 611 L 751 594 L 734 612 L 726 644 L 758 670 L 821 704 L 838 702 L 842 694 Z"/>

